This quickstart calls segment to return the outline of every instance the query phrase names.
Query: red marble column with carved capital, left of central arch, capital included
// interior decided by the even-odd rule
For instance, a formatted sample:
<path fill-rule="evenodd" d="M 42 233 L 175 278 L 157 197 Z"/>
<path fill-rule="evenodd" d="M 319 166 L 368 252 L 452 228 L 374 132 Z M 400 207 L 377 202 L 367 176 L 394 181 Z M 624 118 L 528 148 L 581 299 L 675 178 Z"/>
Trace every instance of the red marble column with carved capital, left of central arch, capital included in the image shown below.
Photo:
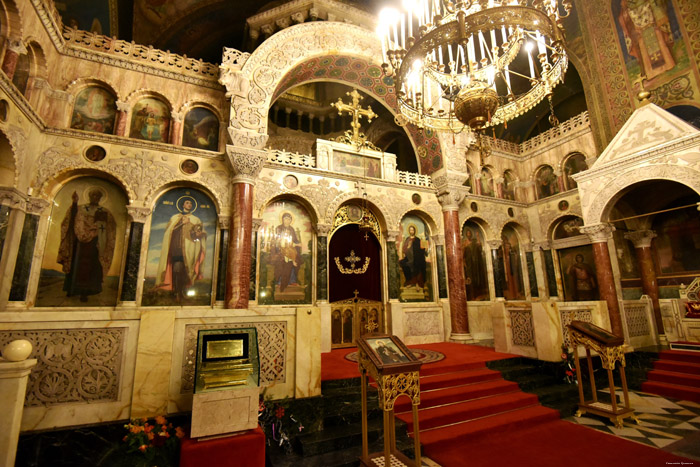
<path fill-rule="evenodd" d="M 226 153 L 233 168 L 234 177 L 225 307 L 248 308 L 253 233 L 253 185 L 267 159 L 267 153 L 236 146 L 227 146 Z"/>

